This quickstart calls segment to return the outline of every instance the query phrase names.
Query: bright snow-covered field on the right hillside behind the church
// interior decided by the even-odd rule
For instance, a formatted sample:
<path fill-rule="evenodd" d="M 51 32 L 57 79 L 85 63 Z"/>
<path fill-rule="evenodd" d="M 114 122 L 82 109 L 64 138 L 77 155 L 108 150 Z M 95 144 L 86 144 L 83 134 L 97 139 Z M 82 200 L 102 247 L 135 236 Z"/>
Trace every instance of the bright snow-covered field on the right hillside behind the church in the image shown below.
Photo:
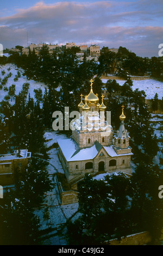
<path fill-rule="evenodd" d="M 102 79 L 103 83 L 106 83 L 108 79 Z M 153 79 L 147 79 L 147 80 L 132 80 L 133 81 L 133 87 L 132 89 L 135 90 L 138 88 L 139 90 L 144 90 L 146 93 L 146 99 L 153 99 L 154 95 L 158 94 L 158 99 L 162 99 L 163 97 L 163 82 L 156 81 Z M 117 83 L 120 84 L 120 86 L 123 86 L 123 84 L 126 82 L 124 80 L 116 80 Z"/>

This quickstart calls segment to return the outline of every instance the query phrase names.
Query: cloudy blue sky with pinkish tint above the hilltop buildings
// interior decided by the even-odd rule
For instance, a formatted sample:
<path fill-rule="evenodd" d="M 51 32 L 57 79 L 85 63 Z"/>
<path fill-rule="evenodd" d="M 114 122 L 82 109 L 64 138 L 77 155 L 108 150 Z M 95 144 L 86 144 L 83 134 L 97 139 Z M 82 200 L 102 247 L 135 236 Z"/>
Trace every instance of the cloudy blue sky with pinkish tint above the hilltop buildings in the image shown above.
<path fill-rule="evenodd" d="M 122 46 L 137 56 L 159 57 L 162 14 L 162 0 L 5 0 L 0 9 L 0 44 L 5 49 L 75 42 Z"/>

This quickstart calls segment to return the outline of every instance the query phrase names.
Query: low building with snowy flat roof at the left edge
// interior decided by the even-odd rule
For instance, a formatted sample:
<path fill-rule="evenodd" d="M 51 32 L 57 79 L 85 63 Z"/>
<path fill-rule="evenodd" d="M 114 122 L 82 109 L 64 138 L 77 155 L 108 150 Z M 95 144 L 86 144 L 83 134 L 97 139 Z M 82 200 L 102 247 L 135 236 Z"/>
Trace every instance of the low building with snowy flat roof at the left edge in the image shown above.
<path fill-rule="evenodd" d="M 23 172 L 31 153 L 27 149 L 15 150 L 13 154 L 0 155 L 0 184 L 14 184 L 16 171 Z"/>

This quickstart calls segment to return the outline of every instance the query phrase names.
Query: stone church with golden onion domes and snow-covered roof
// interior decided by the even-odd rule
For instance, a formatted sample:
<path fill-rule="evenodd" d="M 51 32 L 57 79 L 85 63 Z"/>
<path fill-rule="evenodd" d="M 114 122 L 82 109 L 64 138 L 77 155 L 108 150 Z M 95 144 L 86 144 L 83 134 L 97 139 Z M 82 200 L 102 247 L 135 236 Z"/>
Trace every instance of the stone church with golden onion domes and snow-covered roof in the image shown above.
<path fill-rule="evenodd" d="M 79 119 L 73 123 L 72 138 L 58 140 L 58 156 L 65 172 L 65 182 L 68 184 L 66 193 L 62 182 L 58 181 L 62 204 L 77 202 L 77 183 L 86 173 L 131 174 L 130 159 L 133 153 L 124 125 L 124 106 L 120 115 L 120 127 L 114 135 L 110 115 L 107 113 L 105 118 L 104 96 L 102 95 L 100 104 L 98 94 L 93 93 L 93 81 L 90 82 L 90 93 L 84 97 L 84 102 L 83 95 L 80 95 Z"/>

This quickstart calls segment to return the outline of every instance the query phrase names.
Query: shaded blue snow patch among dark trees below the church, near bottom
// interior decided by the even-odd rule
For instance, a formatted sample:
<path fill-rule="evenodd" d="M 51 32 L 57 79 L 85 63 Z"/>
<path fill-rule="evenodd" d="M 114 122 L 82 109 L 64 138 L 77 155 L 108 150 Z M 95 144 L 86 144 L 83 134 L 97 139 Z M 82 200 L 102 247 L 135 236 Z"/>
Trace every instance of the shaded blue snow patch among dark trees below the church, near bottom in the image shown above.
<path fill-rule="evenodd" d="M 56 180 L 54 177 L 54 184 Z M 48 209 L 49 217 L 45 218 L 45 211 Z M 41 237 L 43 245 L 67 245 L 65 229 L 60 232 L 60 228 L 66 221 L 76 216 L 78 203 L 61 205 L 58 187 L 55 186 L 52 191 L 45 193 L 45 199 L 42 208 L 35 209 L 35 215 L 40 218 L 40 230 L 47 230 L 47 233 Z M 48 231 L 52 228 L 52 231 Z M 61 234 L 60 234 L 61 233 Z M 52 237 L 49 237 L 52 236 Z"/>

